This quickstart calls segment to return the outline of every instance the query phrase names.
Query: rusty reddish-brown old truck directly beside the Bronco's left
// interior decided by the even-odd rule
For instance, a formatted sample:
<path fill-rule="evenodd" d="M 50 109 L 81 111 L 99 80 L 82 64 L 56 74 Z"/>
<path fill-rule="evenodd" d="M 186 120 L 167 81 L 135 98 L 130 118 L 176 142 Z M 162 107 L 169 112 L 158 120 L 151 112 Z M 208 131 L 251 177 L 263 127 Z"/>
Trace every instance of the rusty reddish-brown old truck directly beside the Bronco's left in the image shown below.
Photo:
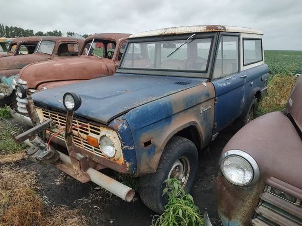
<path fill-rule="evenodd" d="M 101 33 L 86 38 L 79 56 L 36 62 L 25 66 L 15 78 L 34 93 L 81 81 L 112 76 L 118 67 L 130 34 Z M 91 47 L 91 49 L 90 49 Z M 90 51 L 88 51 L 90 49 Z M 11 113 L 18 121 L 32 125 L 25 100 L 17 97 Z"/>

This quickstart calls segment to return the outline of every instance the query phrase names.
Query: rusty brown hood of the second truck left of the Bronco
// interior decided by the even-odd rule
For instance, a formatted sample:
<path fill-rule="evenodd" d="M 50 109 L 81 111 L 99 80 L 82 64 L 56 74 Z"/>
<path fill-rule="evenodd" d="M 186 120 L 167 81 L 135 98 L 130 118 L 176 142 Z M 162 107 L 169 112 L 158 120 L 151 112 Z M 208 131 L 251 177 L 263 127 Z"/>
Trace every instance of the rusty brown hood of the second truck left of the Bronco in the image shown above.
<path fill-rule="evenodd" d="M 0 58 L 0 72 L 1 70 L 21 69 L 27 64 L 47 60 L 50 57 L 50 55 L 42 53 L 2 57 Z"/>

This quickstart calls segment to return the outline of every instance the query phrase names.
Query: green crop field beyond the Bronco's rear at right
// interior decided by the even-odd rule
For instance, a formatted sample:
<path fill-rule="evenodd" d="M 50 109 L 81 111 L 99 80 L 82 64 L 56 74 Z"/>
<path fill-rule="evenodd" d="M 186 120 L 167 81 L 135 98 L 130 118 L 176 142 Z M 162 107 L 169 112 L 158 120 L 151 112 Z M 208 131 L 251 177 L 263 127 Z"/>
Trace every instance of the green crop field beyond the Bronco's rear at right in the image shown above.
<path fill-rule="evenodd" d="M 264 51 L 270 74 L 302 73 L 302 51 Z"/>

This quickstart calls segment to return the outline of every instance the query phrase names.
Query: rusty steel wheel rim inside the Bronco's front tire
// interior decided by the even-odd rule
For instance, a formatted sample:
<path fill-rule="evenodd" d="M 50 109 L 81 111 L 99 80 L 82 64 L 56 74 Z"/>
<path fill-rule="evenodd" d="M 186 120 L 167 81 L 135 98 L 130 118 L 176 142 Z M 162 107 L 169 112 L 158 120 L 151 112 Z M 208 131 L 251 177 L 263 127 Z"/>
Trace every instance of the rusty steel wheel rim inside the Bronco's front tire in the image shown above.
<path fill-rule="evenodd" d="M 184 180 L 182 180 L 182 175 L 185 177 Z M 182 156 L 178 158 L 175 163 L 173 164 L 169 174 L 168 174 L 168 180 L 171 178 L 178 179 L 181 184 L 182 188 L 184 188 L 188 182 L 190 176 L 190 161 L 187 157 Z"/>

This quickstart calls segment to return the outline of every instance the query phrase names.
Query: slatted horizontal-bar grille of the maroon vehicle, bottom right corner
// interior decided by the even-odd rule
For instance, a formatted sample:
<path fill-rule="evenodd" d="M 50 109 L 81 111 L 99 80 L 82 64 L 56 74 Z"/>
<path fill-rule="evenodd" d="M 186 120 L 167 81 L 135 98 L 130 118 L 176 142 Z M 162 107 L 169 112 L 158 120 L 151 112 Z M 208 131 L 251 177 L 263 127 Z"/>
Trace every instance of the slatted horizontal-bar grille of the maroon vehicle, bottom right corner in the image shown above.
<path fill-rule="evenodd" d="M 265 191 L 260 194 L 261 200 L 251 224 L 257 226 L 302 226 L 301 202 L 285 192 L 270 185 L 266 186 Z"/>

